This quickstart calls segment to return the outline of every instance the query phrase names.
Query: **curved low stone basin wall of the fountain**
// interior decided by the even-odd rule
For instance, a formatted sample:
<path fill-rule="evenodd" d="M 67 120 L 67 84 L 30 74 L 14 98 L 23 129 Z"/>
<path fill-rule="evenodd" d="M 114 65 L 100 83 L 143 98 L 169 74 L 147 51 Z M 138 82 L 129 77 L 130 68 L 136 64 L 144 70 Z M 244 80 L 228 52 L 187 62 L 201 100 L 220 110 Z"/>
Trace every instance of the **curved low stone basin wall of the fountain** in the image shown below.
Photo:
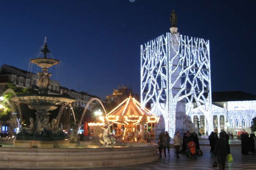
<path fill-rule="evenodd" d="M 80 141 L 80 146 L 99 145 Z M 123 147 L 19 148 L 0 147 L 0 169 L 83 169 L 134 165 L 158 160 L 157 144 L 116 143 Z M 127 147 L 128 146 L 128 147 Z"/>

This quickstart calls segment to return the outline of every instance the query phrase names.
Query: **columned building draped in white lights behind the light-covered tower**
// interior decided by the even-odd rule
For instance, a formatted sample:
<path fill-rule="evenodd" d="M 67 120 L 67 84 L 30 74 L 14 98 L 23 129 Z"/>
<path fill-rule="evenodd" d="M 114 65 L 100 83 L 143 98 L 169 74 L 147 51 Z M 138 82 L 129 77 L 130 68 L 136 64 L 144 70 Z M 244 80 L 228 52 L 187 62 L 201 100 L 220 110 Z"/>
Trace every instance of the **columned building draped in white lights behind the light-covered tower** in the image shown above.
<path fill-rule="evenodd" d="M 206 134 L 206 119 L 200 107 L 193 103 L 188 115 L 195 128 Z M 245 130 L 251 133 L 252 119 L 256 116 L 256 96 L 241 91 L 213 92 L 211 116 L 214 129 L 218 129 L 218 132 L 225 130 L 238 135 Z"/>

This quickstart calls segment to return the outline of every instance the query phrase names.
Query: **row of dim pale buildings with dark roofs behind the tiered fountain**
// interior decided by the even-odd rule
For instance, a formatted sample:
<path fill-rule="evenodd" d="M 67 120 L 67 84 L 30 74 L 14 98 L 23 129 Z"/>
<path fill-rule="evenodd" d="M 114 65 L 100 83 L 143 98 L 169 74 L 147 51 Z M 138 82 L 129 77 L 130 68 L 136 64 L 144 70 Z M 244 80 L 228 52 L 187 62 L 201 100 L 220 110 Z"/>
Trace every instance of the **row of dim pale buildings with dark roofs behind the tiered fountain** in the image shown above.
<path fill-rule="evenodd" d="M 6 90 L 6 86 L 8 83 L 11 83 L 16 87 L 31 88 L 36 93 L 38 91 L 37 80 L 38 75 L 33 72 L 28 72 L 14 66 L 3 64 L 0 68 L 0 94 L 2 94 Z M 89 100 L 92 98 L 98 98 L 99 100 L 101 100 L 102 103 L 105 102 L 105 100 L 99 98 L 98 96 L 62 87 L 60 86 L 59 81 L 53 79 L 50 80 L 50 87 L 48 93 L 55 95 L 62 95 L 63 93 L 68 94 L 69 96 L 76 99 L 76 101 L 72 103 L 73 107 L 85 107 Z M 91 110 L 97 104 L 98 103 L 95 101 L 91 102 L 88 109 Z M 0 121 L 0 132 L 15 132 L 15 129 L 18 128 L 18 125 L 12 118 L 13 117 L 11 116 L 10 120 L 7 120 L 5 122 Z"/>

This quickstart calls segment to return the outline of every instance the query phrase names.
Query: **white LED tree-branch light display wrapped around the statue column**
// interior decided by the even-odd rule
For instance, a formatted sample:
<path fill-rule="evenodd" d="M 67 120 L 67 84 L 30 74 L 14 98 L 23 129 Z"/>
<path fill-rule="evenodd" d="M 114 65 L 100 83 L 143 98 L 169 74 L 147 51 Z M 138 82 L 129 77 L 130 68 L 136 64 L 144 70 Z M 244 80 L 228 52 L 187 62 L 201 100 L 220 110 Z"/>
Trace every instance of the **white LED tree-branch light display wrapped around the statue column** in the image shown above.
<path fill-rule="evenodd" d="M 141 46 L 140 98 L 142 106 L 154 103 L 151 111 L 162 114 L 165 130 L 175 133 L 176 105 L 182 99 L 207 106 L 211 113 L 209 41 L 166 33 Z M 212 120 L 208 120 L 210 122 Z M 210 127 L 210 125 L 208 126 Z"/>

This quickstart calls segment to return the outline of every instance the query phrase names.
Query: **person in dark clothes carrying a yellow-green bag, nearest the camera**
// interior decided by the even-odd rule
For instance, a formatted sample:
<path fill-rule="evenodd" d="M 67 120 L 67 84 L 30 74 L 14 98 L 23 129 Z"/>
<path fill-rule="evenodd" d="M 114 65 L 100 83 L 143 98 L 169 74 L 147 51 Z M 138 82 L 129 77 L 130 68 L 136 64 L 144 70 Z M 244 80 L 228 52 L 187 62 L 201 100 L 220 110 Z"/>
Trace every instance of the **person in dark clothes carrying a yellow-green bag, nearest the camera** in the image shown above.
<path fill-rule="evenodd" d="M 225 170 L 226 156 L 230 154 L 229 142 L 226 139 L 224 132 L 219 133 L 219 139 L 216 142 L 214 155 L 217 156 L 217 161 L 220 170 Z"/>

